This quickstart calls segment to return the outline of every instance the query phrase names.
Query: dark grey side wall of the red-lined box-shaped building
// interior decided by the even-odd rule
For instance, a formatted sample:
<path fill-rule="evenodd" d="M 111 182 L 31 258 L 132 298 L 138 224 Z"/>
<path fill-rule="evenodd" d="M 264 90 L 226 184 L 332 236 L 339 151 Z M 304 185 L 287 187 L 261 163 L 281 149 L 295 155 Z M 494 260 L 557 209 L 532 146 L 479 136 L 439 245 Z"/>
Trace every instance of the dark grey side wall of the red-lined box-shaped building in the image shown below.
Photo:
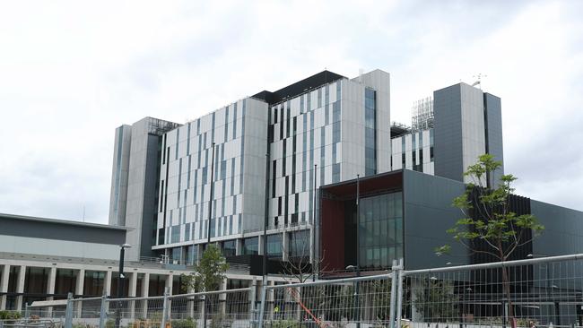
<path fill-rule="evenodd" d="M 464 184 L 443 177 L 404 171 L 405 267 L 422 269 L 467 263 L 468 254 L 446 230 L 462 213 L 451 206 L 454 197 L 464 193 Z M 435 255 L 434 249 L 451 246 L 450 255 Z"/>

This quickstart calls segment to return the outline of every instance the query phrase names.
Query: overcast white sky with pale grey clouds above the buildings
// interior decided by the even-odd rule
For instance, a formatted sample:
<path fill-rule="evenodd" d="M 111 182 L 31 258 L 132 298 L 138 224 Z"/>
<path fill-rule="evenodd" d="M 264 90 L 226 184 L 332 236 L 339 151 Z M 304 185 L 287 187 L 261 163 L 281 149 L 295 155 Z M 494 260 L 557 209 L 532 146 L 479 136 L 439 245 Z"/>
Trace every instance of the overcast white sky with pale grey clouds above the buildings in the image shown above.
<path fill-rule="evenodd" d="M 358 3 L 358 4 L 356 4 Z M 115 128 L 184 123 L 327 68 L 391 119 L 486 74 L 518 194 L 583 211 L 583 1 L 0 3 L 0 212 L 107 223 Z"/>

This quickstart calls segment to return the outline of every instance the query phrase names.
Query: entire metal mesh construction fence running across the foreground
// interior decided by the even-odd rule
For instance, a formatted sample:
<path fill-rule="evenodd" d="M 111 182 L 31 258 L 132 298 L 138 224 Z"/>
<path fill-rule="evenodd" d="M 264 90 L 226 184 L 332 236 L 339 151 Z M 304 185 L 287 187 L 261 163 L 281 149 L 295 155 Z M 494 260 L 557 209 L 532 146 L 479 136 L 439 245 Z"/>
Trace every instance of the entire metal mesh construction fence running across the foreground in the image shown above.
<path fill-rule="evenodd" d="M 583 327 L 583 255 L 409 271 L 401 261 L 383 274 L 265 284 L 260 290 L 254 285 L 150 298 L 70 297 L 34 302 L 21 322 L 11 324 L 33 323 L 65 328 Z"/>

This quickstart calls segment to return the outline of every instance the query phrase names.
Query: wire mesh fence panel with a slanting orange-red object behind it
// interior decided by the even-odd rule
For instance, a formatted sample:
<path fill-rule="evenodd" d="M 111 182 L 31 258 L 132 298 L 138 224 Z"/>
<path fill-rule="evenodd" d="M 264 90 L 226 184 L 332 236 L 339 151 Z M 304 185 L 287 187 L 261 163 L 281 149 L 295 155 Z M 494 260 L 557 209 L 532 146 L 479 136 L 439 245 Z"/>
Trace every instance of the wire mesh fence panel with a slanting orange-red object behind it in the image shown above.
<path fill-rule="evenodd" d="M 267 286 L 263 326 L 388 326 L 393 273 Z"/>

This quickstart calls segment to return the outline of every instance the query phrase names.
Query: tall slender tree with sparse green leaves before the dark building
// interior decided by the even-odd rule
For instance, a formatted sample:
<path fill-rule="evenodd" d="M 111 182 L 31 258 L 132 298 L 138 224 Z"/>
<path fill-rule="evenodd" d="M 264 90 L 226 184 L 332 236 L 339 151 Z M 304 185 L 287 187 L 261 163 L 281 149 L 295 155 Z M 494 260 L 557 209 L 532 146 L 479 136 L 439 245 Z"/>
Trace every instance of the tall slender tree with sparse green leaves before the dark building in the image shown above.
<path fill-rule="evenodd" d="M 467 168 L 465 177 L 472 183 L 467 184 L 466 192 L 454 198 L 453 206 L 459 208 L 465 218 L 457 223 L 448 234 L 452 235 L 470 252 L 491 255 L 500 262 L 507 261 L 519 247 L 526 245 L 538 236 L 544 227 L 538 224 L 532 214 L 518 215 L 510 209 L 510 196 L 514 192 L 512 183 L 517 180 L 510 174 L 502 175 L 497 186 L 493 173 L 502 163 L 490 154 L 478 157 L 478 162 Z M 527 233 L 530 231 L 531 233 Z M 450 246 L 440 246 L 436 254 L 448 253 Z M 509 302 L 509 318 L 516 326 L 514 309 L 510 298 L 509 273 L 502 268 L 502 288 Z"/>

